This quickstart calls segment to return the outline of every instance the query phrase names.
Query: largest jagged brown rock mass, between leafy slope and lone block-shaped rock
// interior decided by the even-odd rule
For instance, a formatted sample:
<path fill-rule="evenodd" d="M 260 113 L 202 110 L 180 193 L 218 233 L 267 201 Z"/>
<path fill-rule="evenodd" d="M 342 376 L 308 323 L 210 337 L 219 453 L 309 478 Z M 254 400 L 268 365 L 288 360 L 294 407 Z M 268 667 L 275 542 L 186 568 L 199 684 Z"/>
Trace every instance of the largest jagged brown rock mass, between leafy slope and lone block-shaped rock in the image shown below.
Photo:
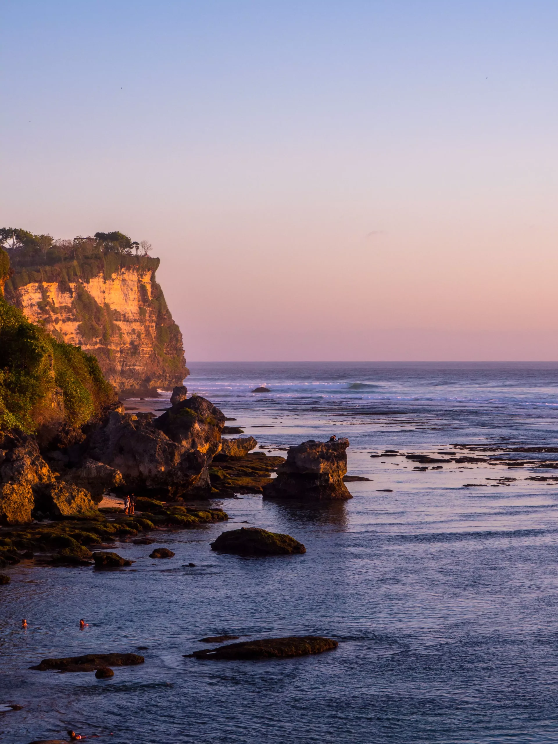
<path fill-rule="evenodd" d="M 170 498 L 209 491 L 208 468 L 224 423 L 219 408 L 198 396 L 155 420 L 112 411 L 89 435 L 83 454 L 117 469 L 128 490 L 144 495 Z"/>

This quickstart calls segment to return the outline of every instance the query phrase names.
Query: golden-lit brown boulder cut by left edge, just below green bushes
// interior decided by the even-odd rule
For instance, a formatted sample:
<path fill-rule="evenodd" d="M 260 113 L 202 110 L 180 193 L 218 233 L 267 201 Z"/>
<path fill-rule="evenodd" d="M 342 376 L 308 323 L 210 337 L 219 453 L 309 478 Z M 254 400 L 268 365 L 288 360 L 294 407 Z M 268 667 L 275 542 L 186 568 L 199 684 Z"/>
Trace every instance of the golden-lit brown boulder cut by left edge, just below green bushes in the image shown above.
<path fill-rule="evenodd" d="M 0 523 L 31 522 L 35 494 L 54 484 L 35 437 L 22 432 L 0 434 Z"/>

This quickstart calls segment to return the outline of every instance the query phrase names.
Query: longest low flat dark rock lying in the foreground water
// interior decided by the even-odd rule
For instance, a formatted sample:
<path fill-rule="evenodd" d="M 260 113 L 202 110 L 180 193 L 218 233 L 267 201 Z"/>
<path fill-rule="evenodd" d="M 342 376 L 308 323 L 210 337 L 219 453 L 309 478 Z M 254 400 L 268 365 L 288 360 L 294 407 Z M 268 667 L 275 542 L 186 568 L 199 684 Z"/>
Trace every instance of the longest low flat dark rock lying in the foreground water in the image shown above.
<path fill-rule="evenodd" d="M 291 635 L 286 638 L 264 638 L 259 641 L 241 641 L 239 644 L 227 644 L 217 649 L 201 649 L 189 656 L 199 659 L 220 661 L 222 659 L 243 659 L 251 661 L 260 658 L 292 658 L 307 656 L 338 647 L 333 638 L 321 635 Z"/>

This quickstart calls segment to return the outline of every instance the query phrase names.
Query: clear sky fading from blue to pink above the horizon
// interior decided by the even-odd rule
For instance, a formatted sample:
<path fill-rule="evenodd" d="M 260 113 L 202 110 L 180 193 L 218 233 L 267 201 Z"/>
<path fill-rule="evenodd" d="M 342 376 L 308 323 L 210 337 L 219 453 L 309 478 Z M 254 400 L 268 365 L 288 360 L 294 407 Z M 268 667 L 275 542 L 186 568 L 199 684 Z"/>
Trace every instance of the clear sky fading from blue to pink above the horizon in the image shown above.
<path fill-rule="evenodd" d="M 150 240 L 187 359 L 558 360 L 555 0 L 2 0 L 0 223 Z"/>

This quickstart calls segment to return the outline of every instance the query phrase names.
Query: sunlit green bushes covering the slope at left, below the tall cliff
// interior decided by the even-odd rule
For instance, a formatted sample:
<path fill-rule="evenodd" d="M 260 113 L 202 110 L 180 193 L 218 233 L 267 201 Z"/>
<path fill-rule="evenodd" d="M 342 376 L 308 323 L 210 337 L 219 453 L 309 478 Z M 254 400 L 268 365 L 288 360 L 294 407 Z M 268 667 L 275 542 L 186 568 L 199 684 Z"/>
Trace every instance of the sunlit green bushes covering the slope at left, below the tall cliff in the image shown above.
<path fill-rule="evenodd" d="M 9 268 L 0 248 L 0 280 Z M 94 356 L 56 341 L 0 292 L 0 429 L 79 427 L 113 400 Z"/>

